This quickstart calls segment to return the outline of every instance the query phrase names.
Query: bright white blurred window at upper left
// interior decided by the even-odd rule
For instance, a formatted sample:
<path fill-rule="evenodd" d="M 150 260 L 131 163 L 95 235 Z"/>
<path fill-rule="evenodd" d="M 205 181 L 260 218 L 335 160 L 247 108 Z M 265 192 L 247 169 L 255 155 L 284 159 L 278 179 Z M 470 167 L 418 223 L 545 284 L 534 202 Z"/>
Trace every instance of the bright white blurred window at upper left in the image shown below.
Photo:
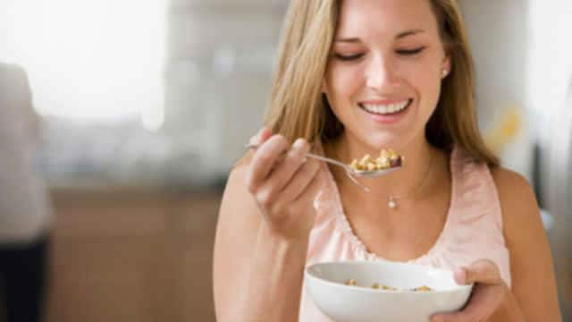
<path fill-rule="evenodd" d="M 166 1 L 8 3 L 0 60 L 29 71 L 41 114 L 161 126 Z"/>

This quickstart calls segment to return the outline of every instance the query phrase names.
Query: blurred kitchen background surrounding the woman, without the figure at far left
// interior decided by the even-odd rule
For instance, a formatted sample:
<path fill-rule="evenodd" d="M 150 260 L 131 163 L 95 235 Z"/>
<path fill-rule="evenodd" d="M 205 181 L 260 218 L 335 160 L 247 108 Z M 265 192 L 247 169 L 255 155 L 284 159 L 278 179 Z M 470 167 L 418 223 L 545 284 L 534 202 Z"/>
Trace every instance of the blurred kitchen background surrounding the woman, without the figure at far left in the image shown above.
<path fill-rule="evenodd" d="M 571 321 L 572 3 L 460 3 L 479 125 L 534 185 Z M 0 62 L 28 73 L 41 117 L 47 321 L 214 321 L 218 206 L 261 124 L 286 6 L 0 0 Z"/>

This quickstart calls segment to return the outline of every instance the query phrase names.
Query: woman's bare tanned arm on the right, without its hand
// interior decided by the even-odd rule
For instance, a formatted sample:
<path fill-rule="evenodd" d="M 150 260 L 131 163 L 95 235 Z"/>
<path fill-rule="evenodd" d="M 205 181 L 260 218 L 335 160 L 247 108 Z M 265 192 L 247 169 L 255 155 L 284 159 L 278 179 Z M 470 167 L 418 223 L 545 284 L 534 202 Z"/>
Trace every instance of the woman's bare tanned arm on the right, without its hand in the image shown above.
<path fill-rule="evenodd" d="M 510 252 L 512 287 L 492 321 L 510 321 L 518 311 L 526 321 L 561 321 L 551 249 L 534 191 L 519 174 L 492 170 L 501 199 Z"/>

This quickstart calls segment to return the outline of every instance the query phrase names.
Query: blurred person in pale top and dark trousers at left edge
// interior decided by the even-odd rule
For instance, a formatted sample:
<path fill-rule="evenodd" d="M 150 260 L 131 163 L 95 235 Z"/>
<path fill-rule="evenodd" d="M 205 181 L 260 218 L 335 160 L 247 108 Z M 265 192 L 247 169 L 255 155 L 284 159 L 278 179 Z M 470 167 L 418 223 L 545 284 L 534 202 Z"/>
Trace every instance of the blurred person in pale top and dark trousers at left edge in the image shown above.
<path fill-rule="evenodd" d="M 36 322 L 44 310 L 52 209 L 34 162 L 39 123 L 26 72 L 0 64 L 0 299 L 8 322 Z"/>

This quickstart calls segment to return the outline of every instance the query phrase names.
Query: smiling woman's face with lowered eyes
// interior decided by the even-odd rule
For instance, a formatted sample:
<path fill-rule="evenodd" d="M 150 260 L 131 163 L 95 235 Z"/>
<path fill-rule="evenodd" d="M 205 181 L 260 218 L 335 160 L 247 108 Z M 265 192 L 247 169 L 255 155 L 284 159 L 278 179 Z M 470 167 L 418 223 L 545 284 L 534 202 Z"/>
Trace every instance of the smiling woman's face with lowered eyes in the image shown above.
<path fill-rule="evenodd" d="M 344 0 L 323 91 L 346 135 L 369 148 L 425 140 L 443 69 L 428 0 Z"/>

